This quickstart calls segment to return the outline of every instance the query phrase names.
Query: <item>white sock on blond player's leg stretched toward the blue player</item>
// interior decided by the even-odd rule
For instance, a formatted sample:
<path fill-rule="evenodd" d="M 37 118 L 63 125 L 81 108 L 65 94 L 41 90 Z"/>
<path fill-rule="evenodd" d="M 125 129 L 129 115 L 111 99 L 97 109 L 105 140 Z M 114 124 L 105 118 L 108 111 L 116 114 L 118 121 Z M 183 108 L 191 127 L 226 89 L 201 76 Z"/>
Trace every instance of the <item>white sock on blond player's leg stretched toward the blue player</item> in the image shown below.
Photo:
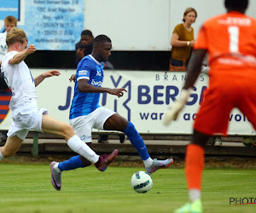
<path fill-rule="evenodd" d="M 73 152 L 79 153 L 84 158 L 88 159 L 91 164 L 95 164 L 100 156 L 97 155 L 84 141 L 82 141 L 78 135 L 73 135 L 68 141 L 67 146 L 70 147 Z"/>

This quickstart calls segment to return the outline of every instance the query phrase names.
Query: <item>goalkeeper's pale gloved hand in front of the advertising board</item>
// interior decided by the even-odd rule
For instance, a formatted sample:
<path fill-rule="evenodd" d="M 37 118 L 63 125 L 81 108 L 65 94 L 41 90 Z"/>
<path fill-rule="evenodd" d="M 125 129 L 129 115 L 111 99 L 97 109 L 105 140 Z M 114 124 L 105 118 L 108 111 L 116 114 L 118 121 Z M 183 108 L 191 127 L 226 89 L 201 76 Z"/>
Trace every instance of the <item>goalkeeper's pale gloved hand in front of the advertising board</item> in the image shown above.
<path fill-rule="evenodd" d="M 168 125 L 172 120 L 176 120 L 179 112 L 183 110 L 183 107 L 187 103 L 191 89 L 183 89 L 180 97 L 174 101 L 172 107 L 168 108 L 164 114 L 164 124 Z"/>

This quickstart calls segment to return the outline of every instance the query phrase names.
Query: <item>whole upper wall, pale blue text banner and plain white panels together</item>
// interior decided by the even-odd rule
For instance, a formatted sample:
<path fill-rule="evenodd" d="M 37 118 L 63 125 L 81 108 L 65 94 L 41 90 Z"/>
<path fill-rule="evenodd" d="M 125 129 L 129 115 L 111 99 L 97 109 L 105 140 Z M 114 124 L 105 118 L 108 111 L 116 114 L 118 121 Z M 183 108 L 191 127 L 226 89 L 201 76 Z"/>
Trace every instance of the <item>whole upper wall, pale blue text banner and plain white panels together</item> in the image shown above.
<path fill-rule="evenodd" d="M 0 29 L 12 14 L 38 50 L 74 50 L 88 28 L 111 37 L 114 51 L 168 51 L 188 7 L 198 13 L 195 36 L 204 20 L 225 12 L 224 0 L 0 0 Z M 250 1 L 247 14 L 256 18 L 255 7 Z"/>

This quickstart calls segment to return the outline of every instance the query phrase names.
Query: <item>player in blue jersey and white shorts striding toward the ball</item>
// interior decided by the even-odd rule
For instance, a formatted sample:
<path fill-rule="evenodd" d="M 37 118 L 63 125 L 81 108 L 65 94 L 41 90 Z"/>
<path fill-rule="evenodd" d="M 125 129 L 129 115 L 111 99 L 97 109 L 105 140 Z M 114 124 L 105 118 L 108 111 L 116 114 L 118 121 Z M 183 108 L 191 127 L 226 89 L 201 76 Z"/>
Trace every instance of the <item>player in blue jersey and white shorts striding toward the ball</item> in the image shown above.
<path fill-rule="evenodd" d="M 99 35 L 93 43 L 91 55 L 86 55 L 80 62 L 75 75 L 75 86 L 73 102 L 70 108 L 70 124 L 80 139 L 86 143 L 91 143 L 91 130 L 118 130 L 124 132 L 131 141 L 133 147 L 143 159 L 146 170 L 149 174 L 159 169 L 168 168 L 173 160 L 157 160 L 150 158 L 147 147 L 141 135 L 138 134 L 134 125 L 121 117 L 118 113 L 100 107 L 100 94 L 107 92 L 111 95 L 121 97 L 126 91 L 123 88 L 110 89 L 102 87 L 104 62 L 111 55 L 112 43 L 109 37 Z M 90 156 L 94 158 L 94 156 Z M 88 166 L 90 162 L 79 155 L 69 158 L 60 163 L 51 163 L 51 172 L 60 177 L 63 170 L 74 170 Z"/>

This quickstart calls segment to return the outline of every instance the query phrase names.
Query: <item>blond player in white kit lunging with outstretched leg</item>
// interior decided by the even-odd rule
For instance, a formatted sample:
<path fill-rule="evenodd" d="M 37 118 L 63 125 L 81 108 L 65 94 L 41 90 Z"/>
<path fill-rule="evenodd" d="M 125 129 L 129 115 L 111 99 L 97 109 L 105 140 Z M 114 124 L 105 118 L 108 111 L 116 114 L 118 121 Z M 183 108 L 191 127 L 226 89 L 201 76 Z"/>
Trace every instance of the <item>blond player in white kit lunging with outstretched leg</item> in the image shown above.
<path fill-rule="evenodd" d="M 90 160 L 90 163 L 95 164 L 98 170 L 104 170 L 116 157 L 117 150 L 103 157 L 96 155 L 84 141 L 80 140 L 79 136 L 75 135 L 70 125 L 49 117 L 46 109 L 38 109 L 35 87 L 44 78 L 58 76 L 60 72 L 53 70 L 44 72 L 37 78 L 32 78 L 32 73 L 24 60 L 27 55 L 34 53 L 36 48 L 34 45 L 27 47 L 27 38 L 24 31 L 16 27 L 12 28 L 7 34 L 6 43 L 8 53 L 3 56 L 1 72 L 12 91 L 9 108 L 12 112 L 13 123 L 9 128 L 5 145 L 0 147 L 0 160 L 14 156 L 22 141 L 25 140 L 28 131 L 37 130 L 62 135 L 67 141 L 67 145 L 74 152 Z M 58 176 L 53 174 L 52 181 L 56 179 L 58 179 Z M 56 183 L 55 188 L 61 190 L 61 185 Z"/>

